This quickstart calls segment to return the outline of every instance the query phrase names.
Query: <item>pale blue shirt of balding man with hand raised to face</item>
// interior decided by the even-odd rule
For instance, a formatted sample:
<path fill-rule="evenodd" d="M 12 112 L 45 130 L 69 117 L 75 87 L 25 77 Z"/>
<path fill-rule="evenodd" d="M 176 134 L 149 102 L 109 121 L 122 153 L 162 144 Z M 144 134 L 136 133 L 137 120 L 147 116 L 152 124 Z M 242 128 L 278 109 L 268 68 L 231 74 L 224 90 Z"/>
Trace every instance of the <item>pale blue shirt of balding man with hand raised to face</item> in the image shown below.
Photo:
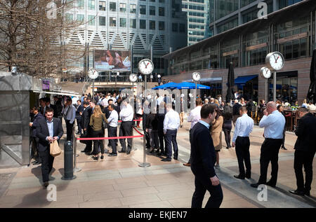
<path fill-rule="evenodd" d="M 259 123 L 259 127 L 265 127 L 265 138 L 269 139 L 283 139 L 284 125 L 285 118 L 277 110 L 268 116 L 263 116 Z"/>

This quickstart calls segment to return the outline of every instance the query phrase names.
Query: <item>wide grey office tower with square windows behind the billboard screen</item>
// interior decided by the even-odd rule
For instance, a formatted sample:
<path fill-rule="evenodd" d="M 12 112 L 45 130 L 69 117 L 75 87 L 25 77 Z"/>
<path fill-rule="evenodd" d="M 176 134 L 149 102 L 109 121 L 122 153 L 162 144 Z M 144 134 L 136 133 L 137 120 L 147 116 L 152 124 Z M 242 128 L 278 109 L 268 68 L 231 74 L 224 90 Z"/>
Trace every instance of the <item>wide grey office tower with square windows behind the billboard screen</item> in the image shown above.
<path fill-rule="evenodd" d="M 89 67 L 91 50 L 131 50 L 131 71 L 137 73 L 138 61 L 150 58 L 152 48 L 154 72 L 163 74 L 162 55 L 187 46 L 181 0 L 77 0 L 66 17 L 85 22 L 66 43 L 89 46 Z"/>

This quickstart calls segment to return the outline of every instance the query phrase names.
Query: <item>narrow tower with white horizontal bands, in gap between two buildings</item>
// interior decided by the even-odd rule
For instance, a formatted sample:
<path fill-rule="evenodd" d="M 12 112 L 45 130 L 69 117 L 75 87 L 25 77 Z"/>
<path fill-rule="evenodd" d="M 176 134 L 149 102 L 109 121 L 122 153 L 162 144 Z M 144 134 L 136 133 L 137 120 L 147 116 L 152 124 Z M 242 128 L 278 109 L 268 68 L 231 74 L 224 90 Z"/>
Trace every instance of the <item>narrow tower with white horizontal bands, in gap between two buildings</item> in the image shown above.
<path fill-rule="evenodd" d="M 187 13 L 187 45 L 211 36 L 209 32 L 209 0 L 182 0 Z"/>

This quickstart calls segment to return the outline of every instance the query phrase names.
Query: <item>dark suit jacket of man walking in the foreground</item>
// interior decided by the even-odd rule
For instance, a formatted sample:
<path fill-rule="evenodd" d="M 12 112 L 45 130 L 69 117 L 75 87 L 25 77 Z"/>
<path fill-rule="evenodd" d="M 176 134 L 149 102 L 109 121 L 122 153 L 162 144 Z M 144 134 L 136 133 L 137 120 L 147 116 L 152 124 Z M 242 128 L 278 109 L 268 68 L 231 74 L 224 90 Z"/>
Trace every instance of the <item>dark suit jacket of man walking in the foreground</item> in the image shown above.
<path fill-rule="evenodd" d="M 202 123 L 196 123 L 191 130 L 190 142 L 193 174 L 207 178 L 215 176 L 216 153 L 209 129 Z"/>

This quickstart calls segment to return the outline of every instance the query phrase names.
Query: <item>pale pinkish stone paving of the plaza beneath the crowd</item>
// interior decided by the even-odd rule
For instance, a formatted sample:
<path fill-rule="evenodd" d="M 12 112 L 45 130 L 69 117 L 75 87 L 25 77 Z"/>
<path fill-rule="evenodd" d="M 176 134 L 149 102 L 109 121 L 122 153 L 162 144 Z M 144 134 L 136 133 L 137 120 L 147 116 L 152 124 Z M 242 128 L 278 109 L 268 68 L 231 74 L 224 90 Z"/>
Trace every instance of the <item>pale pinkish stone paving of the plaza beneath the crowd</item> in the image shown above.
<path fill-rule="evenodd" d="M 134 139 L 131 155 L 105 156 L 104 160 L 93 160 L 84 153 L 77 158 L 81 172 L 74 173 L 77 179 L 62 180 L 64 155 L 55 158 L 50 181 L 57 187 L 57 201 L 48 202 L 48 193 L 41 186 L 41 166 L 0 169 L 0 207 L 150 207 L 182 208 L 191 206 L 195 190 L 194 176 L 190 167 L 183 166 L 190 156 L 190 123 L 178 131 L 178 160 L 162 162 L 162 158 L 147 150 L 147 162 L 151 167 L 138 167 L 143 162 L 143 139 Z M 143 131 L 141 131 L 143 132 Z M 233 131 L 232 131 L 233 133 Z M 134 132 L 136 134 L 136 132 Z M 316 207 L 316 161 L 314 159 L 314 180 L 310 197 L 291 195 L 288 190 L 296 189 L 294 174 L 294 143 L 296 136 L 287 132 L 287 151 L 279 151 L 279 174 L 276 188 L 268 188 L 267 201 L 259 201 L 260 190 L 251 188 L 250 183 L 258 181 L 260 173 L 260 148 L 263 143 L 263 129 L 255 126 L 251 133 L 252 179 L 239 180 L 235 149 L 220 151 L 220 169 L 216 173 L 223 188 L 223 203 L 220 207 Z M 65 134 L 62 137 L 65 139 Z M 64 141 L 61 140 L 61 144 Z M 106 141 L 107 143 L 107 141 Z M 84 144 L 77 143 L 78 151 Z M 120 146 L 119 148 L 120 149 Z M 268 179 L 270 178 L 270 166 Z M 204 205 L 209 197 L 206 193 Z M 204 206 L 203 205 L 203 206 Z"/>

